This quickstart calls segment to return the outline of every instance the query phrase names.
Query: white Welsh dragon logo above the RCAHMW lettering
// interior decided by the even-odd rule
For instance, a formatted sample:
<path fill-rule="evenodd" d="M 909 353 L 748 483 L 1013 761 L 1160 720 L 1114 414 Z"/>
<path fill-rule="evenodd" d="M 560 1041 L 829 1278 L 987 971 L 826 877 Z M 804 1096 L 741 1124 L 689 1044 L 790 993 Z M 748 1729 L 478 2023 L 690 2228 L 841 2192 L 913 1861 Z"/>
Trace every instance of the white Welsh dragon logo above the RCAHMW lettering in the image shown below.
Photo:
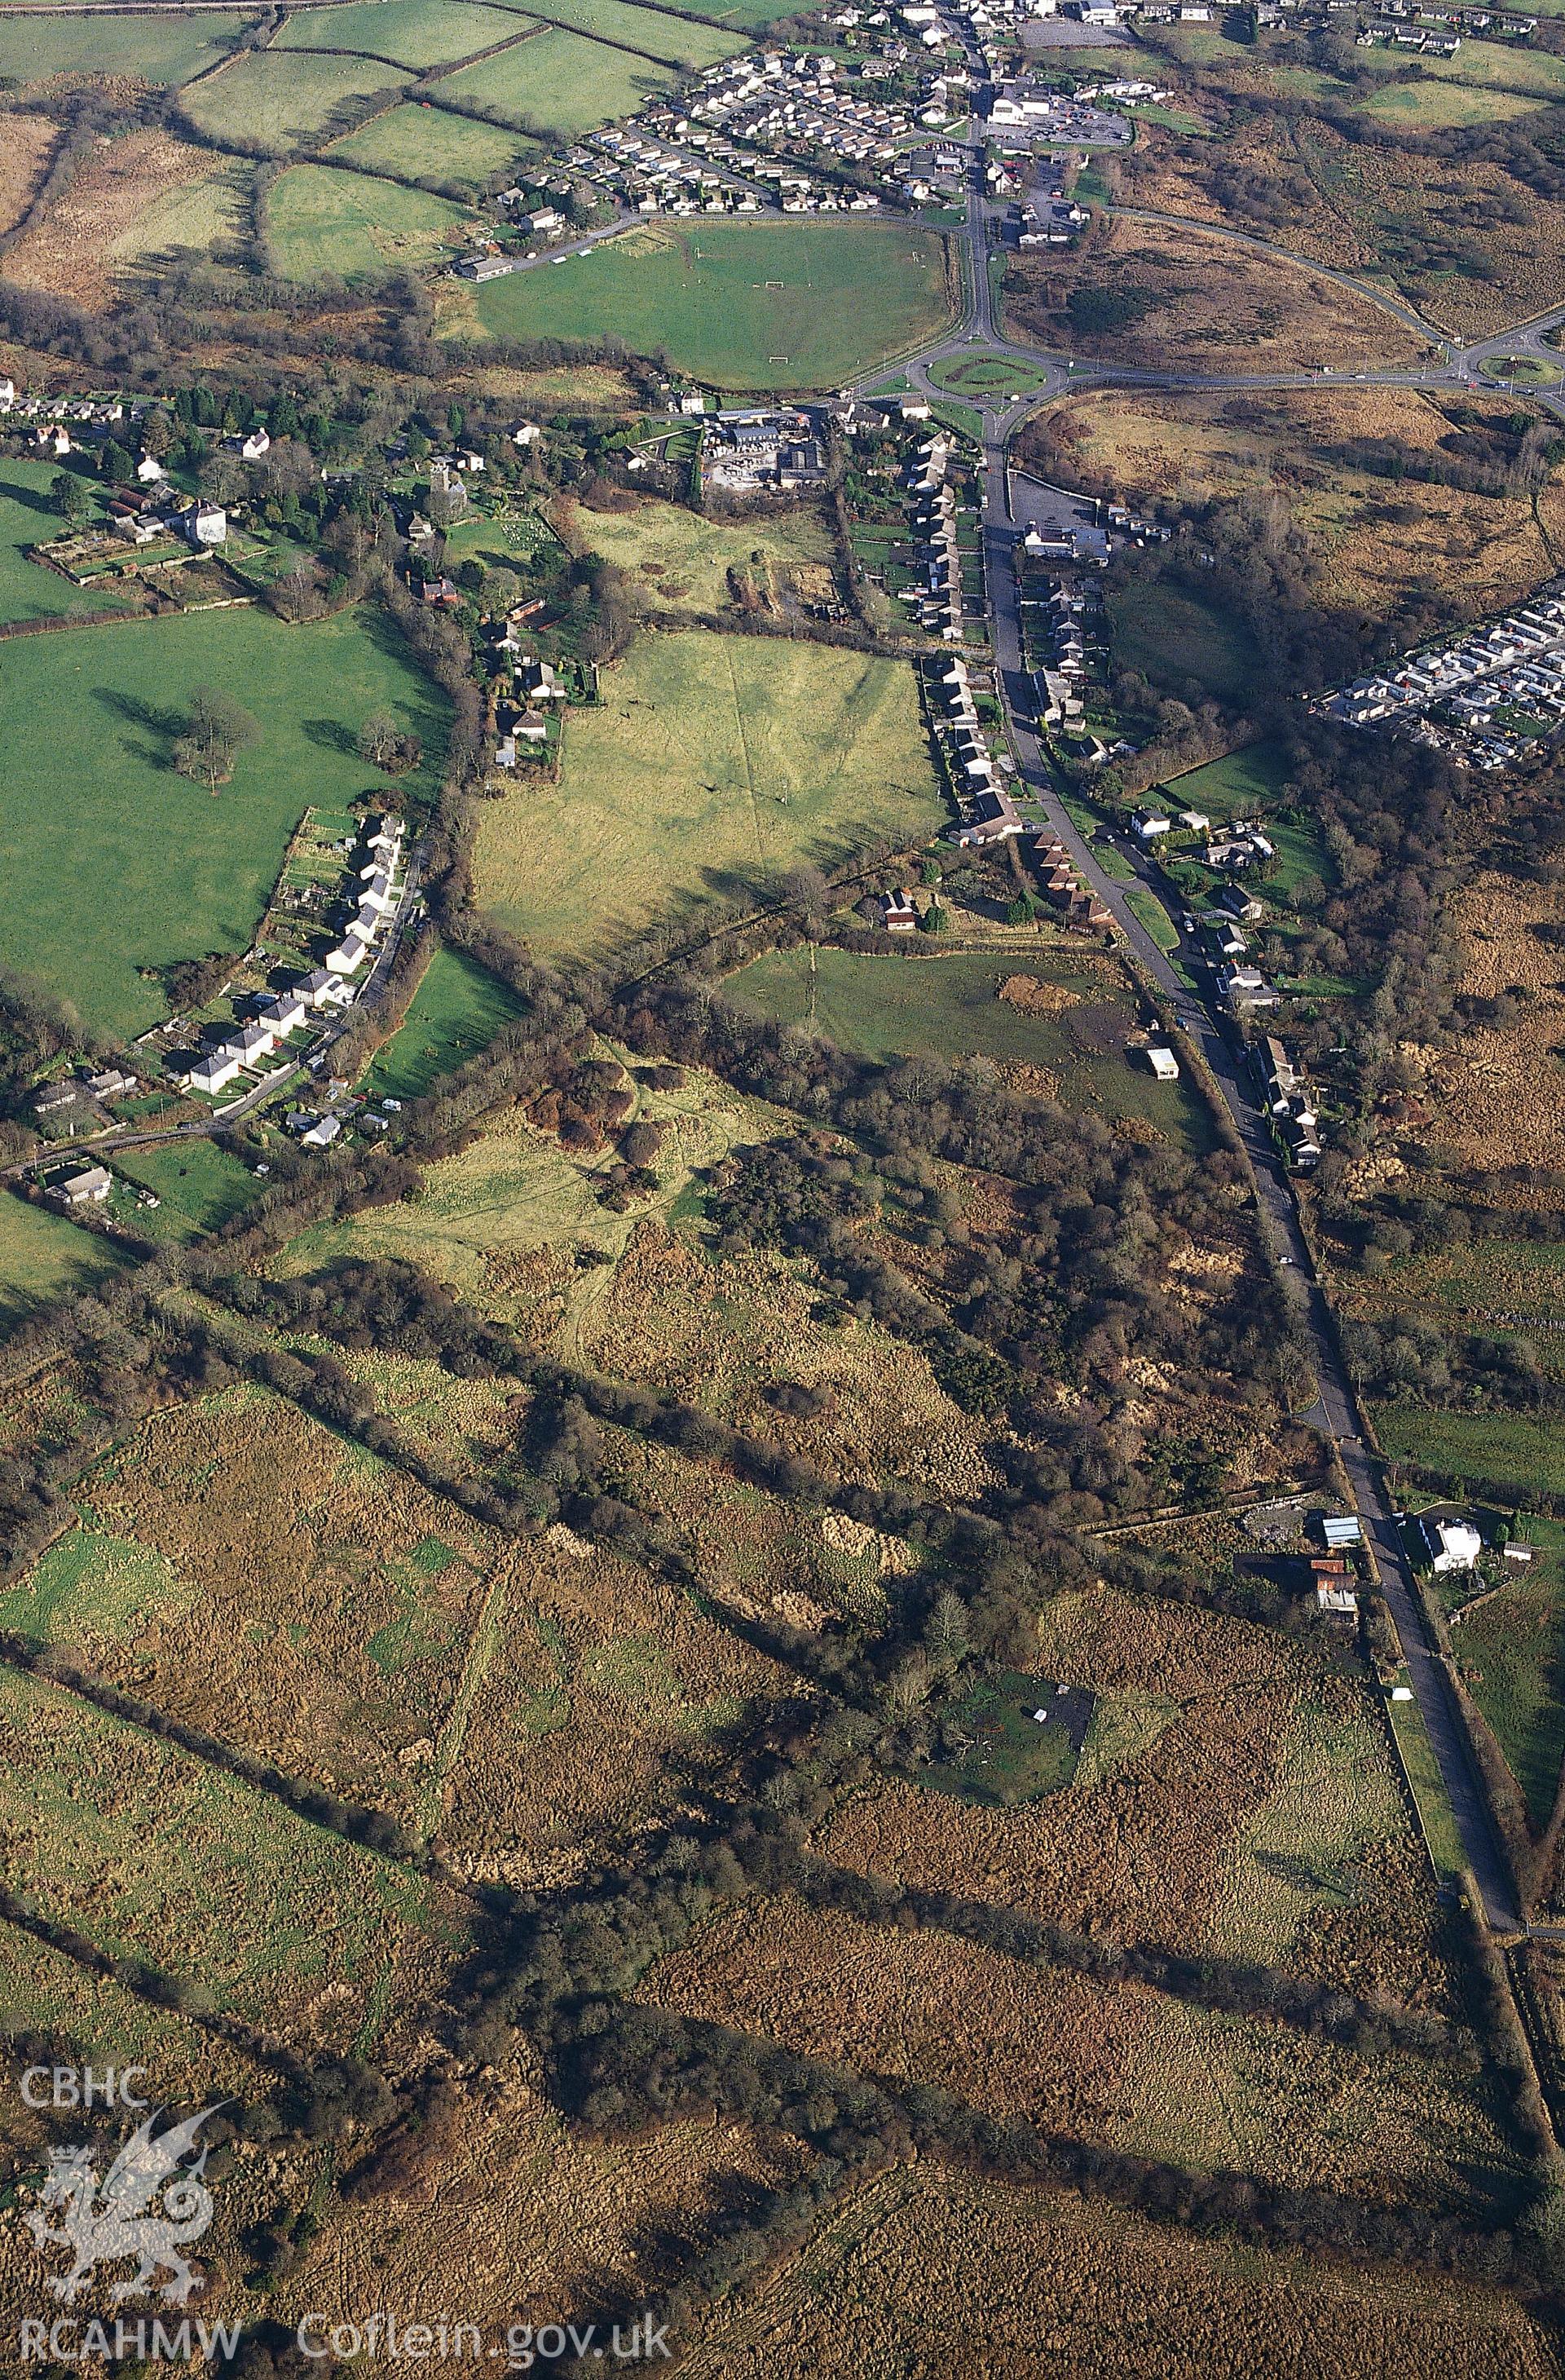
<path fill-rule="evenodd" d="M 38 2247 L 71 2249 L 76 2259 L 71 2271 L 50 2273 L 50 2290 L 67 2306 L 76 2304 L 100 2263 L 119 2263 L 124 2256 L 136 2256 L 136 2273 L 114 2282 L 109 2297 L 117 2306 L 126 2297 L 150 2297 L 162 2271 L 169 2280 L 157 2294 L 166 2306 L 186 2306 L 193 2290 L 205 2287 L 181 2249 L 200 2240 L 212 2223 L 212 2192 L 202 2180 L 209 2147 L 193 2166 L 183 2159 L 207 2116 L 216 2116 L 216 2106 L 205 2106 L 166 2132 L 152 2130 L 162 2111 L 147 2116 L 126 2140 L 102 2185 L 90 2147 L 50 2149 L 40 2204 L 26 2216 L 26 2228 Z M 55 2206 L 64 2209 L 59 2223 L 50 2223 L 48 2216 Z"/>

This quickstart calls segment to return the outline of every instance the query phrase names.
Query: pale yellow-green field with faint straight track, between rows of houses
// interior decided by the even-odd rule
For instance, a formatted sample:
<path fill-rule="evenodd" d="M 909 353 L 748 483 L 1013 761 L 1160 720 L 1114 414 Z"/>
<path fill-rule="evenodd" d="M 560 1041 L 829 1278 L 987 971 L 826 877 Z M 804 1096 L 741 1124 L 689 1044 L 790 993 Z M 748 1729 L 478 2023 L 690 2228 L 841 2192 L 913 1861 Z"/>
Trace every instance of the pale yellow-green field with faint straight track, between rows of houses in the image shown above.
<path fill-rule="evenodd" d="M 944 819 L 906 662 L 645 633 L 602 695 L 566 724 L 559 788 L 478 812 L 478 902 L 540 950 L 604 950 Z"/>

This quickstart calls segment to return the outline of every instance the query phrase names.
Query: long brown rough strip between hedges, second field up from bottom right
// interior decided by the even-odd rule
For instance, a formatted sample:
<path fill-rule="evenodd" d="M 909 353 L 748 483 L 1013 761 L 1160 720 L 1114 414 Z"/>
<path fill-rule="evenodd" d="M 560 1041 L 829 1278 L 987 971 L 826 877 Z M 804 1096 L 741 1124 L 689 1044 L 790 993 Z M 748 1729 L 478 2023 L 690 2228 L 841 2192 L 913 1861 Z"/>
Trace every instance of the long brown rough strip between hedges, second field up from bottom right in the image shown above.
<path fill-rule="evenodd" d="M 1515 2182 L 1472 2082 L 1429 2059 L 1360 2059 L 792 1894 L 714 1918 L 635 1997 L 1132 2154 L 1420 2204 L 1446 2202 L 1458 2163 L 1479 2199 Z"/>

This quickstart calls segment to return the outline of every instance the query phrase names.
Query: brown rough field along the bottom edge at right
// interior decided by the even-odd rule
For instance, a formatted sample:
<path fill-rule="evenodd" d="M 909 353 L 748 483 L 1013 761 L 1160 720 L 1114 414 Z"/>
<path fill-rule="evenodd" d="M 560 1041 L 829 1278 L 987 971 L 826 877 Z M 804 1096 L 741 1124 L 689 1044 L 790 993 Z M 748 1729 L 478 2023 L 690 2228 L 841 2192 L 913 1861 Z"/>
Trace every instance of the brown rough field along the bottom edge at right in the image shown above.
<path fill-rule="evenodd" d="M 1244 2380 L 1553 2370 L 1546 2332 L 1501 2292 L 1265 2256 L 937 2166 L 847 2197 L 799 2256 L 716 2309 L 683 2368 L 692 2380 L 961 2368 L 975 2320 L 997 2370 L 1037 2370 L 1044 2340 L 1042 2368 L 1094 2380 L 1194 2380 L 1220 2368 L 1213 2342 Z"/>

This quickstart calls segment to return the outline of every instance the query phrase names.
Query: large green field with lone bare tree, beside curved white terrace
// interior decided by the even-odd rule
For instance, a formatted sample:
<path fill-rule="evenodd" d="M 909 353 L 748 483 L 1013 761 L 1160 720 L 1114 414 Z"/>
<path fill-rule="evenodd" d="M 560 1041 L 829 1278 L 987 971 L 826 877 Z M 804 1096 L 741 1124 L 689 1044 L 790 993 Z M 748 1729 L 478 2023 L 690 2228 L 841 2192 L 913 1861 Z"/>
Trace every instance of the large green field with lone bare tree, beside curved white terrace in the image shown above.
<path fill-rule="evenodd" d="M 216 795 L 171 769 L 197 685 L 262 724 Z M 288 628 L 205 612 L 0 647 L 0 947 L 100 1031 L 166 1014 L 140 966 L 247 947 L 309 802 L 364 790 L 364 719 L 390 707 L 423 735 L 426 793 L 442 707 L 373 614 Z"/>

